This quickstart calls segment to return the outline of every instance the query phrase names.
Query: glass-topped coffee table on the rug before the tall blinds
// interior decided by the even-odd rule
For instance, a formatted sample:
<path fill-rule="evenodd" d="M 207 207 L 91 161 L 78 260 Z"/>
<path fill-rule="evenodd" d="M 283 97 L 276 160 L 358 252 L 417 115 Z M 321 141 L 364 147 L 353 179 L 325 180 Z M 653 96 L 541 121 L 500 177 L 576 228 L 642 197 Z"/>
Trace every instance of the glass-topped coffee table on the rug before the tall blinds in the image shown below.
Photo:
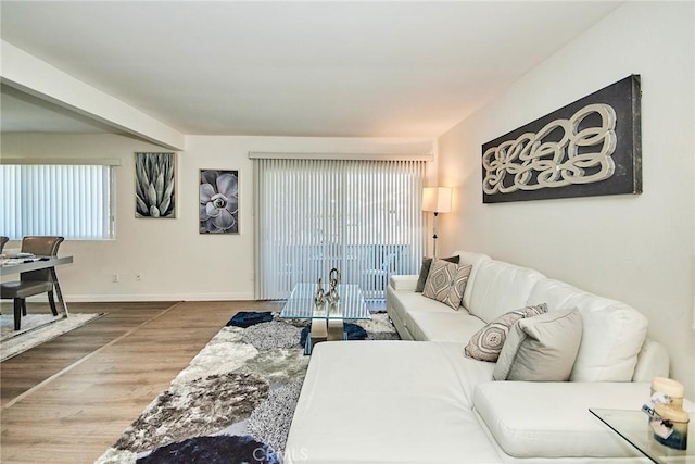
<path fill-rule="evenodd" d="M 304 354 L 312 353 L 312 347 L 325 340 L 345 340 L 344 330 L 346 319 L 370 319 L 365 297 L 357 285 L 338 285 L 340 300 L 337 303 L 326 301 L 321 308 L 314 304 L 316 284 L 298 284 L 280 317 L 287 319 L 309 319 L 312 328 L 306 337 Z"/>

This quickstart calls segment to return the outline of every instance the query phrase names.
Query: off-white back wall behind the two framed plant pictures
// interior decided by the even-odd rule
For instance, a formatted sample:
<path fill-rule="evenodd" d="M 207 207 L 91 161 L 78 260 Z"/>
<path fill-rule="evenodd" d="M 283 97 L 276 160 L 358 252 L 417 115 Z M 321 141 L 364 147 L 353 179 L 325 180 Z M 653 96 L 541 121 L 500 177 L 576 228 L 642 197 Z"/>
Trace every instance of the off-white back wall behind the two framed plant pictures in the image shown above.
<path fill-rule="evenodd" d="M 136 218 L 134 152 L 167 151 L 117 135 L 3 134 L 2 156 L 116 158 L 116 239 L 65 241 L 74 255 L 59 277 L 70 301 L 251 300 L 254 298 L 253 171 L 250 151 L 427 153 L 428 139 L 187 137 L 177 155 L 177 217 Z M 433 164 L 433 163 L 430 163 Z M 239 170 L 239 235 L 200 235 L 199 170 Z M 10 242 L 8 248 L 18 247 Z M 119 281 L 111 281 L 112 274 Z M 141 273 L 141 280 L 135 274 Z"/>

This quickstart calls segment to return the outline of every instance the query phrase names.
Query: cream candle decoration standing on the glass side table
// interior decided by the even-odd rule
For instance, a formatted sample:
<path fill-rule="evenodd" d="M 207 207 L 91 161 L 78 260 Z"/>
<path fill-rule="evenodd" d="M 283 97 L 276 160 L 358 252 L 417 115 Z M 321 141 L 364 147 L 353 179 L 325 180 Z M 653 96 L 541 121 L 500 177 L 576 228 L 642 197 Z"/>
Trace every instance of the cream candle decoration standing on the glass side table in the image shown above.
<path fill-rule="evenodd" d="M 649 416 L 654 439 L 659 443 L 684 450 L 687 447 L 688 414 L 683 410 L 683 384 L 665 377 L 652 380 L 652 397 L 642 411 Z"/>

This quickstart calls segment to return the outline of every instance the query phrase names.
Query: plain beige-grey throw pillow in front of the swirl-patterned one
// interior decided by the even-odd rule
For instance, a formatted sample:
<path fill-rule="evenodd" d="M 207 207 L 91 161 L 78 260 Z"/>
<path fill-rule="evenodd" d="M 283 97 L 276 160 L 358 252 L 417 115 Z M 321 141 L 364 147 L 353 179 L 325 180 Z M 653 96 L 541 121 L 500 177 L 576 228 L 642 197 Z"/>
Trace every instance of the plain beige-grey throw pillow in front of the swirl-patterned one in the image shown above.
<path fill-rule="evenodd" d="M 582 338 L 576 308 L 518 321 L 495 365 L 495 380 L 566 381 Z"/>

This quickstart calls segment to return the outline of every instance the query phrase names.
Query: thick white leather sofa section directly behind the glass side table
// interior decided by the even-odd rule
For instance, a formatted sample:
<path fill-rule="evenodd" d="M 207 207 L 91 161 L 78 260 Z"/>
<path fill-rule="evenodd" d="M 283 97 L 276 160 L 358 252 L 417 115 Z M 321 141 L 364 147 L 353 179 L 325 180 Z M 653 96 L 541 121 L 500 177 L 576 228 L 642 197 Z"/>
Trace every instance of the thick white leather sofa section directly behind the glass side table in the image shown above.
<path fill-rule="evenodd" d="M 500 448 L 514 457 L 634 462 L 640 453 L 589 409 L 639 410 L 648 396 L 648 383 L 492 381 L 476 387 L 473 406 Z"/>

